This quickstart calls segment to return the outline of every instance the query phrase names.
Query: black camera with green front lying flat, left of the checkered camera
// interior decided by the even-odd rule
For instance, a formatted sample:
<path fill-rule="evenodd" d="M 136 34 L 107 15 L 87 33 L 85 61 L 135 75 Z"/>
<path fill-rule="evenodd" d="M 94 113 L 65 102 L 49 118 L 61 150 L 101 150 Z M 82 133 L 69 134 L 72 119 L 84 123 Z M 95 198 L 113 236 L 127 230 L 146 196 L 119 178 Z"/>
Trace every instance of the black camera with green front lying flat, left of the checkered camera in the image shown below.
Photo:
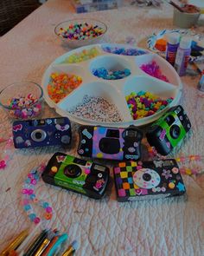
<path fill-rule="evenodd" d="M 74 156 L 55 153 L 41 174 L 43 181 L 101 199 L 109 181 L 109 168 Z"/>

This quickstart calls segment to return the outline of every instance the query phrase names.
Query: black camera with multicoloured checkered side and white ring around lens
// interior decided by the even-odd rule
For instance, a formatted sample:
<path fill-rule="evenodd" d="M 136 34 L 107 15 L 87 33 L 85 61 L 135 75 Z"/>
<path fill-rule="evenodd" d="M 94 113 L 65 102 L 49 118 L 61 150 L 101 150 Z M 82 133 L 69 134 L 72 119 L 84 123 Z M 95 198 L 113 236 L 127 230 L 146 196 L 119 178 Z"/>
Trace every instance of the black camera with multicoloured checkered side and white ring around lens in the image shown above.
<path fill-rule="evenodd" d="M 160 199 L 186 192 L 175 159 L 120 162 L 113 173 L 118 201 Z"/>

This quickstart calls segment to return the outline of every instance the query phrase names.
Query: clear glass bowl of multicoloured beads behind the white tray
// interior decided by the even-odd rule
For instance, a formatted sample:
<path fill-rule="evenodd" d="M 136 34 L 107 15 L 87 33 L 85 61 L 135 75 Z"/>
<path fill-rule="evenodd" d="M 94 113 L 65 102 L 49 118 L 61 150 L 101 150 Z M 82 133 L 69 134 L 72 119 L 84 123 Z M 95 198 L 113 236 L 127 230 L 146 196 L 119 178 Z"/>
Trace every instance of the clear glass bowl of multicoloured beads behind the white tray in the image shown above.
<path fill-rule="evenodd" d="M 106 30 L 105 23 L 85 18 L 59 23 L 54 28 L 54 33 L 69 48 L 78 48 L 92 43 L 99 43 Z"/>

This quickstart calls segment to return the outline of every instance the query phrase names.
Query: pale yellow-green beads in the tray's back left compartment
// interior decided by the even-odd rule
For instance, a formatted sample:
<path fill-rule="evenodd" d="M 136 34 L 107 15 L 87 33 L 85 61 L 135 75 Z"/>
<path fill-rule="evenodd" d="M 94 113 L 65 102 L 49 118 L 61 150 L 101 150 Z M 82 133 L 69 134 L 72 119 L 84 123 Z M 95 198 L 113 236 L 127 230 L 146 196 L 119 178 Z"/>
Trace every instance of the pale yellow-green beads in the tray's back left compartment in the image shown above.
<path fill-rule="evenodd" d="M 80 52 L 76 52 L 73 55 L 68 56 L 63 63 L 84 62 L 94 58 L 95 56 L 99 56 L 99 49 L 92 47 L 91 49 L 83 49 Z"/>

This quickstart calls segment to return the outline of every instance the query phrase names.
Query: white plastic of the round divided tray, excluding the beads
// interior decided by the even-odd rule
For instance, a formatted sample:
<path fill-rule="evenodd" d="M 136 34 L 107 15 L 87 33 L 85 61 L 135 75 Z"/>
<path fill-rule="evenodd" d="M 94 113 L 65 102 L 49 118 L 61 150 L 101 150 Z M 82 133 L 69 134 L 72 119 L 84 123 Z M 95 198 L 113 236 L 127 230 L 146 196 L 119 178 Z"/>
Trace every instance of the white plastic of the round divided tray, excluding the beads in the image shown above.
<path fill-rule="evenodd" d="M 66 59 L 73 54 L 82 52 L 83 49 L 92 49 L 96 47 L 99 55 L 82 62 L 65 63 Z M 105 47 L 123 48 L 123 49 L 139 49 L 146 52 L 140 56 L 124 56 L 113 53 L 108 53 L 103 50 Z M 169 82 L 164 82 L 151 75 L 146 74 L 140 67 L 143 64 L 155 61 L 159 65 L 163 75 L 165 75 Z M 130 69 L 131 75 L 118 80 L 105 80 L 92 75 L 92 69 Z M 54 72 L 66 73 L 70 75 L 79 75 L 82 78 L 80 86 L 74 89 L 69 95 L 63 98 L 60 102 L 53 102 L 48 95 L 48 83 L 50 75 Z M 104 125 L 109 127 L 126 127 L 134 124 L 136 126 L 143 126 L 152 121 L 156 121 L 164 112 L 170 107 L 175 106 L 182 95 L 182 82 L 175 69 L 165 61 L 161 56 L 151 53 L 147 49 L 140 49 L 132 47 L 127 44 L 102 43 L 84 46 L 78 49 L 73 49 L 66 54 L 58 57 L 52 62 L 42 77 L 42 86 L 46 102 L 51 108 L 55 108 L 59 115 L 67 116 L 71 121 L 80 124 L 89 125 Z M 131 112 L 125 100 L 126 95 L 131 95 L 132 92 L 138 93 L 140 91 L 149 91 L 154 95 L 158 95 L 163 100 L 173 97 L 165 108 L 156 112 L 154 115 L 143 117 L 141 119 L 133 120 Z M 107 121 L 93 121 L 83 118 L 82 116 L 73 115 L 67 111 L 82 102 L 85 95 L 94 97 L 103 97 L 108 102 L 114 104 L 123 119 L 118 122 Z"/>

